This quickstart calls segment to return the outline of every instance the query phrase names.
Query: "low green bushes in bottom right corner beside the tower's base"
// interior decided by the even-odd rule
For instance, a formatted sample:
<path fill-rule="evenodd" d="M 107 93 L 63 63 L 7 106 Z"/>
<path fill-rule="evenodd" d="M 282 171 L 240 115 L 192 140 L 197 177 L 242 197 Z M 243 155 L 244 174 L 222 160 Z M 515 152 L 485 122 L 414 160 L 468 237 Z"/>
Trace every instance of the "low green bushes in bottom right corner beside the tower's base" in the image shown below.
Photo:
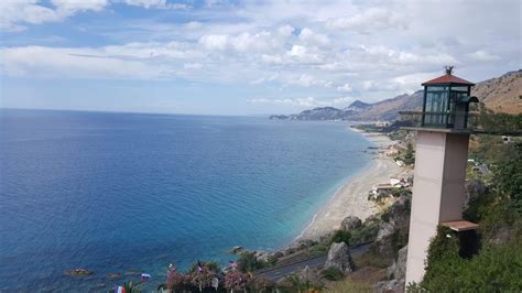
<path fill-rule="evenodd" d="M 459 256 L 458 238 L 438 228 L 426 261 L 426 274 L 409 290 L 428 292 L 520 292 L 522 290 L 522 247 L 518 241 L 488 245 L 471 259 Z"/>

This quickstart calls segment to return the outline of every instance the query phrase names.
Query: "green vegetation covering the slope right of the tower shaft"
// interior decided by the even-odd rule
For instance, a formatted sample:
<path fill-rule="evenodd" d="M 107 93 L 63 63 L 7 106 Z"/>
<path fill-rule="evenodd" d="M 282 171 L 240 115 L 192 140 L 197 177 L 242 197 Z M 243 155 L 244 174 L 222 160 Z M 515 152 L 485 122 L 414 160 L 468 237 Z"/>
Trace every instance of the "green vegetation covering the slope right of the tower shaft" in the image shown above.
<path fill-rule="evenodd" d="M 482 194 L 475 195 L 464 216 L 478 223 L 478 235 L 439 227 L 432 240 L 426 274 L 409 290 L 428 292 L 522 291 L 522 143 L 479 137 L 476 160 L 491 166 Z"/>

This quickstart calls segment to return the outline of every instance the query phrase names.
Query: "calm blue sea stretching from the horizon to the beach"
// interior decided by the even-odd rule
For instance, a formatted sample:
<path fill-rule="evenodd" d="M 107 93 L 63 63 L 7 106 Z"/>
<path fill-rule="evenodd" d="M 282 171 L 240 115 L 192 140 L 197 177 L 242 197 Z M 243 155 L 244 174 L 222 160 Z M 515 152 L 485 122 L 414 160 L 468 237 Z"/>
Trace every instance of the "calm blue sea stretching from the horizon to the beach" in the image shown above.
<path fill-rule="evenodd" d="M 276 250 L 370 145 L 347 122 L 0 109 L 0 291 L 154 289 L 170 263 Z"/>

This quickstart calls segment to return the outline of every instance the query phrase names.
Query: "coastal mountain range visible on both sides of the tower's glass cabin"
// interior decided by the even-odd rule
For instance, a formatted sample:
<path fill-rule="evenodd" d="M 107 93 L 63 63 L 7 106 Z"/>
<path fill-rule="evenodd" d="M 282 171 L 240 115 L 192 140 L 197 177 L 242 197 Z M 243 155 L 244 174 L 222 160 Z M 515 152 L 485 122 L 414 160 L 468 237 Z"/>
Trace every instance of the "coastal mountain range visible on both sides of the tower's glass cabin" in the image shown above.
<path fill-rule="evenodd" d="M 509 72 L 500 77 L 478 83 L 472 91 L 488 109 L 496 112 L 522 112 L 522 70 Z M 293 120 L 396 120 L 399 111 L 421 110 L 423 90 L 403 94 L 391 99 L 369 104 L 356 100 L 345 109 L 319 107 L 297 115 L 273 115 L 270 119 Z"/>

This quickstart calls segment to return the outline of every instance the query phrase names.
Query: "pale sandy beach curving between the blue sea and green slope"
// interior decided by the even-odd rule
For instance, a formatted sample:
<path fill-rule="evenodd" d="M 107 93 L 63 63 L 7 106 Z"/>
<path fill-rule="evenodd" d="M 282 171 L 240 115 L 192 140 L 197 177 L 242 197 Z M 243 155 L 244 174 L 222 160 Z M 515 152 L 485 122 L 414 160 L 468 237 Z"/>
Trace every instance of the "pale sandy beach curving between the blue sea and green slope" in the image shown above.
<path fill-rule="evenodd" d="M 354 131 L 358 131 L 352 129 Z M 361 131 L 358 131 L 361 132 Z M 394 144 L 388 137 L 379 133 L 363 133 L 379 150 L 385 150 Z M 368 150 L 378 151 L 378 150 Z M 314 216 L 298 239 L 317 239 L 336 230 L 348 216 L 356 216 L 365 220 L 378 209 L 368 200 L 368 193 L 377 184 L 387 183 L 390 177 L 401 176 L 404 169 L 396 165 L 385 154 L 376 153 L 369 166 L 351 177 L 333 198 Z"/>

